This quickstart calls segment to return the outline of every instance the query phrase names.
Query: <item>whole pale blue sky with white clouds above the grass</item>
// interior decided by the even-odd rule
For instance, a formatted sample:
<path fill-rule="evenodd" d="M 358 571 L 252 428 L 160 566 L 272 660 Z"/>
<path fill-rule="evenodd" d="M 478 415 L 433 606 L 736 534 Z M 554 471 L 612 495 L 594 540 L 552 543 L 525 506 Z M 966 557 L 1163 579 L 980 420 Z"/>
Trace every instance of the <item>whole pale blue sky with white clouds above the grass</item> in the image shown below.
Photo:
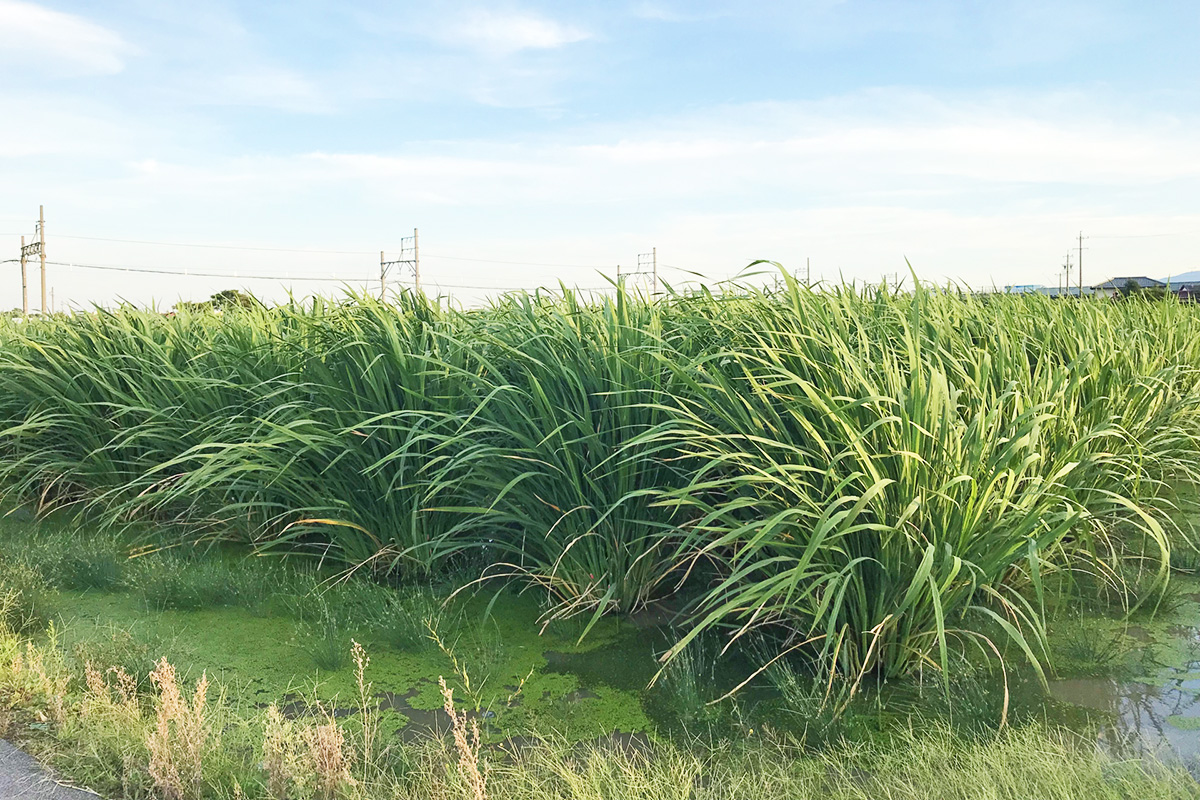
<path fill-rule="evenodd" d="M 366 279 L 420 227 L 426 285 L 463 302 L 596 285 L 650 247 L 676 282 L 907 258 L 1055 284 L 1082 230 L 1085 281 L 1178 273 L 1200 269 L 1198 34 L 1194 1 L 0 0 L 0 259 L 42 203 L 54 261 L 229 275 Z"/>

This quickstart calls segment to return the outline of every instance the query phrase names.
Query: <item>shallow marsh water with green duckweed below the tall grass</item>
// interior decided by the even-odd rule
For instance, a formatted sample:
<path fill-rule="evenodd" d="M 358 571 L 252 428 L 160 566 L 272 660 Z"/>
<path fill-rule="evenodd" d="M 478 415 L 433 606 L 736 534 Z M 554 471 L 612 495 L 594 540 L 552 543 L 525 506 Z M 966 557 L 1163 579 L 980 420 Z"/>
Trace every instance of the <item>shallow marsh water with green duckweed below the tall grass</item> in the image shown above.
<path fill-rule="evenodd" d="M 17 536 L 13 546 L 29 533 L 18 527 L 31 529 L 28 522 L 0 525 Z M 443 616 L 443 640 L 434 646 L 422 631 L 407 643 L 389 638 L 364 609 L 394 590 L 365 591 L 353 582 L 320 597 L 301 589 L 289 597 L 286 585 L 275 587 L 270 578 L 260 582 L 271 584 L 266 595 L 248 603 L 156 606 L 150 588 L 193 569 L 203 583 L 204 565 L 197 559 L 161 570 L 152 563 L 122 566 L 126 575 L 107 590 L 58 591 L 62 646 L 80 662 L 124 664 L 143 674 L 168 656 L 185 675 L 204 672 L 217 680 L 230 702 L 343 716 L 359 712 L 348 702 L 358 694 L 353 666 L 323 666 L 317 656 L 330 644 L 348 649 L 354 638 L 371 656 L 372 706 L 396 735 L 446 728 L 438 687 L 444 676 L 481 722 L 488 746 L 500 748 L 520 748 L 546 730 L 570 741 L 640 748 L 673 733 L 737 739 L 776 728 L 820 745 L 929 718 L 995 728 L 1006 712 L 1003 679 L 995 670 L 958 673 L 948 688 L 936 680 L 864 686 L 841 715 L 814 691 L 820 681 L 787 670 L 764 673 L 733 699 L 720 700 L 754 672 L 762 654 L 718 657 L 716 643 L 701 642 L 664 669 L 659 656 L 678 636 L 674 609 L 664 607 L 632 619 L 604 618 L 581 638 L 586 620 L 546 625 L 545 599 L 533 593 L 481 594 Z M 140 571 L 131 575 L 131 569 Z M 1008 720 L 1063 724 L 1094 736 L 1098 747 L 1117 757 L 1177 760 L 1200 777 L 1200 579 L 1171 581 L 1174 601 L 1158 613 L 1051 614 L 1052 672 L 1045 686 L 1009 648 Z M 332 609 L 341 620 L 336 630 L 314 632 L 305 621 L 308 612 L 298 608 L 314 603 Z"/>

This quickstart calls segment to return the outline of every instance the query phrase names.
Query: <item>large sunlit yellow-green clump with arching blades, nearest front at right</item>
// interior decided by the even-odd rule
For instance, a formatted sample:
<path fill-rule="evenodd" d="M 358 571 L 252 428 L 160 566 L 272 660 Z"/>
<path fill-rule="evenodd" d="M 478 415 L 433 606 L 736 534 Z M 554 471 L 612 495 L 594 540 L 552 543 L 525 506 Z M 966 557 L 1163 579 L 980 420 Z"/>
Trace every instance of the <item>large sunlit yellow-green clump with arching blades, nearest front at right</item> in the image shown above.
<path fill-rule="evenodd" d="M 955 640 L 996 650 L 995 624 L 1037 664 L 1043 573 L 1111 552 L 1109 527 L 1144 533 L 1165 576 L 1147 475 L 1195 470 L 1194 367 L 1048 368 L 1013 303 L 964 347 L 948 312 L 978 302 L 793 285 L 744 301 L 740 349 L 679 367 L 697 399 L 653 435 L 703 464 L 672 503 L 721 577 L 668 657 L 714 627 L 773 631 L 857 682 L 944 669 Z"/>

